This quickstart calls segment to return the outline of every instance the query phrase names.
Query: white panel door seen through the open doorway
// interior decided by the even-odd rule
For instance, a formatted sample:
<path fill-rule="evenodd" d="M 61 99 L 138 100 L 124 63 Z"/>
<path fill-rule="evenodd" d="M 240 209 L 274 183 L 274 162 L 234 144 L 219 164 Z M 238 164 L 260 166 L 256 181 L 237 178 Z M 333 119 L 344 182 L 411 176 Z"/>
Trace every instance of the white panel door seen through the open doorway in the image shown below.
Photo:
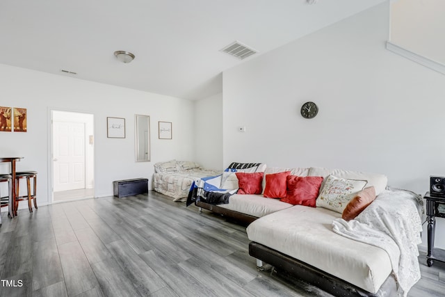
<path fill-rule="evenodd" d="M 54 192 L 85 188 L 85 124 L 54 122 Z"/>

